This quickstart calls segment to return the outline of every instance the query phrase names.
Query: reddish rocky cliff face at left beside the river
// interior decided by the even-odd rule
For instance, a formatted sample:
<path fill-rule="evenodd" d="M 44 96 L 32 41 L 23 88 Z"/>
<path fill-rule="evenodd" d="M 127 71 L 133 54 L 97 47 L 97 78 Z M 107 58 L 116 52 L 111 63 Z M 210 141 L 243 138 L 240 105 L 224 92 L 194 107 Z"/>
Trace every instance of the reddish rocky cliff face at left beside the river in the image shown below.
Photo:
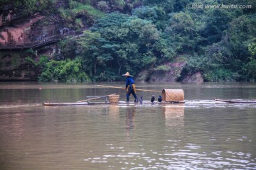
<path fill-rule="evenodd" d="M 0 27 L 0 79 L 36 80 L 38 72 L 26 62 L 33 51 L 34 60 L 41 55 L 53 56 L 56 45 L 34 50 L 28 45 L 43 43 L 46 38 L 59 33 L 55 18 L 39 14 L 10 21 Z M 22 47 L 22 48 L 19 48 Z"/>

